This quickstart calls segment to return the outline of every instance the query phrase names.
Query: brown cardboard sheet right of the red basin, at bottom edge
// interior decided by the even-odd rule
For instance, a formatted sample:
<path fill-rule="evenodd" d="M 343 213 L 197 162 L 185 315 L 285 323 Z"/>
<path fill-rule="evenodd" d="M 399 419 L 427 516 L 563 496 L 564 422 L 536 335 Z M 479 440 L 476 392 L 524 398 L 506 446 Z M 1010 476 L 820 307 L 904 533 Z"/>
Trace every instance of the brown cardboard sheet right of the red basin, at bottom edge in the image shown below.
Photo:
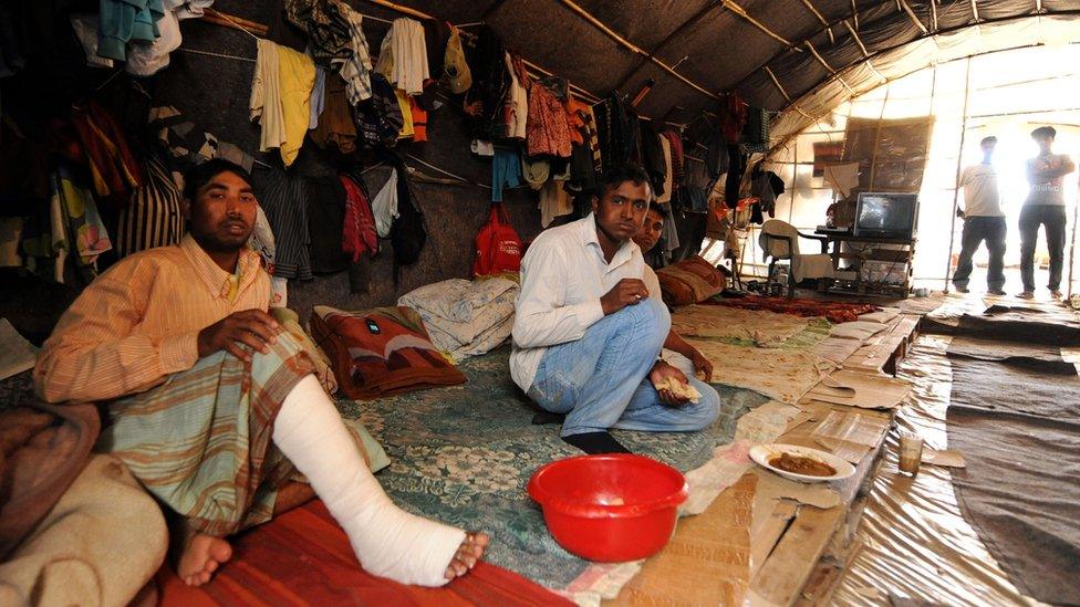
<path fill-rule="evenodd" d="M 758 479 L 744 475 L 705 512 L 681 519 L 664 550 L 604 605 L 741 605 L 750 577 Z"/>

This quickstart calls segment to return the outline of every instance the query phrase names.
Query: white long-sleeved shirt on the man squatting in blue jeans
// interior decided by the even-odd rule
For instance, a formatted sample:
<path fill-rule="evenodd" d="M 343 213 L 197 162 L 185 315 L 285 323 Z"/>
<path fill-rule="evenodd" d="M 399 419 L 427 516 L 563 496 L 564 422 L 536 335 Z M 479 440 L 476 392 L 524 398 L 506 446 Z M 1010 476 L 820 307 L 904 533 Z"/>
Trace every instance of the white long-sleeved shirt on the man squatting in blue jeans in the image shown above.
<path fill-rule="evenodd" d="M 521 260 L 510 376 L 528 391 L 549 347 L 580 339 L 604 317 L 600 297 L 622 279 L 644 278 L 641 249 L 627 241 L 612 258 L 596 238 L 592 213 L 540 233 Z"/>

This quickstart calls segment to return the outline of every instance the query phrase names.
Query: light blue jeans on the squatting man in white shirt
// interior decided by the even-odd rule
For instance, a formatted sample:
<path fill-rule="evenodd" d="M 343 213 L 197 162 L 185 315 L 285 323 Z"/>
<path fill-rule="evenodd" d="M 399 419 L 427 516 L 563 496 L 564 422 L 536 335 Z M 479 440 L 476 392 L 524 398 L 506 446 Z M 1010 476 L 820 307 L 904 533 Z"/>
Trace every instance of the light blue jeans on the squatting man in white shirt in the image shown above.
<path fill-rule="evenodd" d="M 609 428 L 686 432 L 706 428 L 720 410 L 712 386 L 687 374 L 702 393 L 695 405 L 669 407 L 648 380 L 672 318 L 655 300 L 626 306 L 585 331 L 575 342 L 548 348 L 529 397 L 540 407 L 567 414 L 563 437 Z"/>

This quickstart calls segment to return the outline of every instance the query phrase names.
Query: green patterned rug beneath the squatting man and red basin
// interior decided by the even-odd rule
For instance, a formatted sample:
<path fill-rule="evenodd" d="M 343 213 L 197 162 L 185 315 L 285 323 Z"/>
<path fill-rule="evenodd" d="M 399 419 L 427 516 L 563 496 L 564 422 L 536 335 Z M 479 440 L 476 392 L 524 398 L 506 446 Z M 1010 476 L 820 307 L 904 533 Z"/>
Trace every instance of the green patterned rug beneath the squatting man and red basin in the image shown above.
<path fill-rule="evenodd" d="M 559 426 L 533 426 L 534 406 L 510 379 L 502 347 L 460 365 L 463 386 L 371 402 L 342 400 L 382 442 L 392 464 L 377 474 L 404 509 L 494 537 L 487 561 L 549 588 L 564 588 L 589 565 L 548 533 L 540 509 L 525 491 L 532 472 L 552 460 L 581 454 L 562 442 Z M 636 453 L 682 471 L 708 461 L 729 442 L 736 421 L 767 398 L 717 386 L 724 402 L 713 427 L 692 433 L 616 431 Z"/>

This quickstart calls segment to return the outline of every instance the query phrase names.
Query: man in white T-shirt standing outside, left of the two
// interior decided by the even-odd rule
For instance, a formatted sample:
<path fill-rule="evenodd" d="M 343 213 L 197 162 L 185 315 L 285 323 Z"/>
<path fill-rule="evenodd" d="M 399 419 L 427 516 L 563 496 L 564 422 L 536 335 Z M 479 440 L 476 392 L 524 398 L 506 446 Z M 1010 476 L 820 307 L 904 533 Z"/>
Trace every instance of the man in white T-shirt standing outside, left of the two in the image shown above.
<path fill-rule="evenodd" d="M 967 293 L 972 276 L 972 257 L 985 240 L 990 253 L 990 265 L 986 273 L 987 292 L 1004 295 L 1005 286 L 1005 211 L 1001 210 L 1001 196 L 997 191 L 997 170 L 991 164 L 997 137 L 985 137 L 982 143 L 983 161 L 964 169 L 957 187 L 964 188 L 964 209 L 957 214 L 964 219 L 964 233 L 960 237 L 960 258 L 953 274 L 953 284 L 960 293 Z"/>

